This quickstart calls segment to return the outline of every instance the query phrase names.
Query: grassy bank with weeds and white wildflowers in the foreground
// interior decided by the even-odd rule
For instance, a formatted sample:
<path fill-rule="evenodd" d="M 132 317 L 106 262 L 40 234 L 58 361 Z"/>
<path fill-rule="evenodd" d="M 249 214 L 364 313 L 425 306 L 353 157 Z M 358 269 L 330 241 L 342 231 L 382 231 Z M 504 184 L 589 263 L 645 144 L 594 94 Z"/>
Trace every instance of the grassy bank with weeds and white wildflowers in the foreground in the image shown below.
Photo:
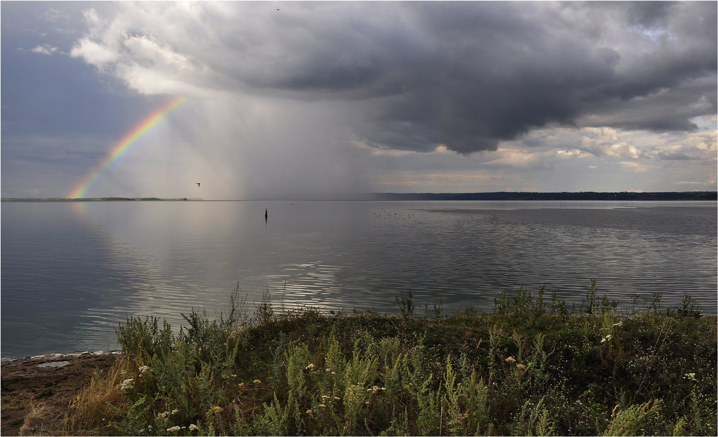
<path fill-rule="evenodd" d="M 686 296 L 567 311 L 544 290 L 491 314 L 276 313 L 238 290 L 174 332 L 118 327 L 123 359 L 63 433 L 102 435 L 716 435 L 717 324 Z M 32 423 L 27 423 L 32 429 Z M 59 430 L 60 431 L 60 430 Z"/>

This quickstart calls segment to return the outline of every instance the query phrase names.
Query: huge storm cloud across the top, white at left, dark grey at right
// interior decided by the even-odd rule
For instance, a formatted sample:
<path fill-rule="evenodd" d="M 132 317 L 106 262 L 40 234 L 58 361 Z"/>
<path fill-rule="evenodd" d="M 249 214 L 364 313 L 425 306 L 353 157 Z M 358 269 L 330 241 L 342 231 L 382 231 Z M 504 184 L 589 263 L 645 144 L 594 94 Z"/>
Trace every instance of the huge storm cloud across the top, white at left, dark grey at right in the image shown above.
<path fill-rule="evenodd" d="M 347 123 L 356 138 L 376 149 L 495 151 L 548 126 L 693 131 L 691 119 L 717 111 L 714 2 L 106 9 L 86 11 L 88 32 L 71 53 L 130 88 L 336 100 L 355 111 Z M 640 155 L 609 142 L 580 148 Z"/>

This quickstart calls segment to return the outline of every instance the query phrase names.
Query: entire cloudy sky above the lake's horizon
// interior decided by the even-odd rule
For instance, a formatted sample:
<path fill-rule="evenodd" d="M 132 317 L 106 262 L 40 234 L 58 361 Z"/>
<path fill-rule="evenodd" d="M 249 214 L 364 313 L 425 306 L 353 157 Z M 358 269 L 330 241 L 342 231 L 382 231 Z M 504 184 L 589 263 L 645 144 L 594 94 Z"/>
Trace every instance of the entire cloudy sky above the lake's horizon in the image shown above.
<path fill-rule="evenodd" d="M 4 0 L 1 195 L 715 191 L 717 5 Z"/>

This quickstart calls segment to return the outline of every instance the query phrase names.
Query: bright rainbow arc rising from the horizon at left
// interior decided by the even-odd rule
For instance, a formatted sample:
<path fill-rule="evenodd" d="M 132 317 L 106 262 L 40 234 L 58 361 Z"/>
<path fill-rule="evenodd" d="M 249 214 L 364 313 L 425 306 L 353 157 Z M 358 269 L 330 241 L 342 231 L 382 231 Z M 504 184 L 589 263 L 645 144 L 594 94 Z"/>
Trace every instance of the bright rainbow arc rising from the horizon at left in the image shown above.
<path fill-rule="evenodd" d="M 122 139 L 113 146 L 102 164 L 98 166 L 97 169 L 88 174 L 88 177 L 85 177 L 83 182 L 75 186 L 75 188 L 73 188 L 72 191 L 67 194 L 67 197 L 70 199 L 78 199 L 80 197 L 85 197 L 85 194 L 90 191 L 90 188 L 93 187 L 95 182 L 100 179 L 102 174 L 107 169 L 109 169 L 112 164 L 114 164 L 120 158 L 120 156 L 125 154 L 125 152 L 128 151 L 132 147 L 132 145 L 135 144 L 137 140 L 139 140 L 139 138 L 141 138 L 145 133 L 147 133 L 151 128 L 153 128 L 154 125 L 159 123 L 162 118 L 177 109 L 177 107 L 182 105 L 182 103 L 185 103 L 185 100 L 187 99 L 182 95 L 173 97 L 167 100 L 167 103 L 164 103 L 164 105 L 160 106 L 151 114 L 149 114 L 149 116 L 146 116 L 144 120 L 140 121 L 137 126 L 132 128 L 131 131 L 126 133 L 125 136 L 123 136 Z"/>

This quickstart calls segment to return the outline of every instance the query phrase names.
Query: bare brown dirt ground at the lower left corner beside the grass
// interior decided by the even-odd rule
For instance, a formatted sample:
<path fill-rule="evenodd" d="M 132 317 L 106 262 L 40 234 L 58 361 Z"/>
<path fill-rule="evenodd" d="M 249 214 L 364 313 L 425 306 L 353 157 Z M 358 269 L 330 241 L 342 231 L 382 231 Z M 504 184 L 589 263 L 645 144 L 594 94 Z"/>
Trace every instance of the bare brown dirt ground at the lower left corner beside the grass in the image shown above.
<path fill-rule="evenodd" d="M 3 361 L 0 435 L 52 435 L 50 430 L 58 429 L 58 420 L 62 422 L 67 406 L 95 370 L 106 370 L 118 358 L 117 354 L 78 352 Z M 28 415 L 32 415 L 32 426 L 23 427 Z"/>

